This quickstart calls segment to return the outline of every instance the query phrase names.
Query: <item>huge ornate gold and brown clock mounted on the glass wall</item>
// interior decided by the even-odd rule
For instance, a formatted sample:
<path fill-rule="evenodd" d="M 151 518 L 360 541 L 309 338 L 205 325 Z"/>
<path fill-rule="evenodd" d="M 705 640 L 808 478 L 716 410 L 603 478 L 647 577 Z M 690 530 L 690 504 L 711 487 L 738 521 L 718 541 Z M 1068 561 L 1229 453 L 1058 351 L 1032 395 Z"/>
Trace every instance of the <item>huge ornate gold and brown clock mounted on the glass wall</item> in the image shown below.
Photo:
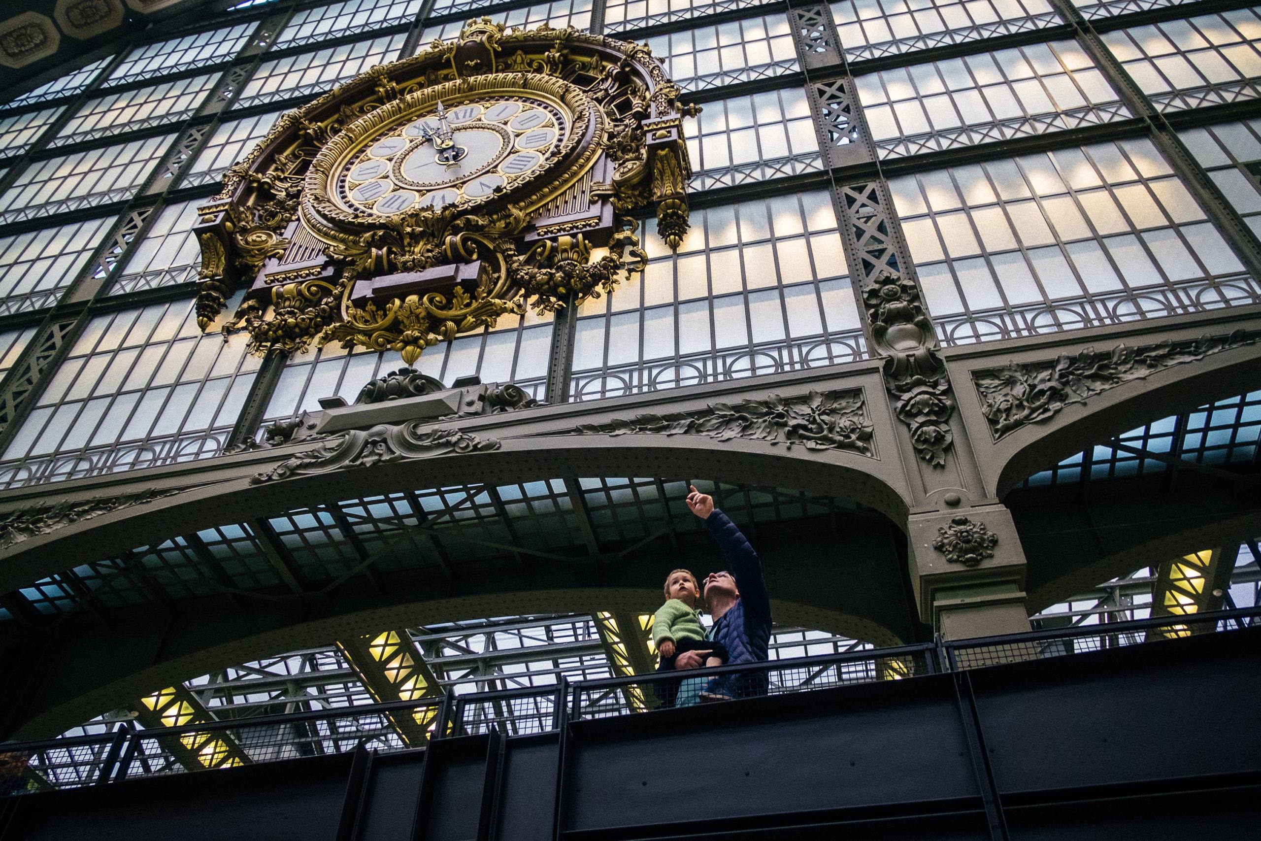
<path fill-rule="evenodd" d="M 199 208 L 203 329 L 251 349 L 420 353 L 525 306 L 610 293 L 647 260 L 634 214 L 687 231 L 678 103 L 647 47 L 469 21 L 454 43 L 282 116 Z"/>

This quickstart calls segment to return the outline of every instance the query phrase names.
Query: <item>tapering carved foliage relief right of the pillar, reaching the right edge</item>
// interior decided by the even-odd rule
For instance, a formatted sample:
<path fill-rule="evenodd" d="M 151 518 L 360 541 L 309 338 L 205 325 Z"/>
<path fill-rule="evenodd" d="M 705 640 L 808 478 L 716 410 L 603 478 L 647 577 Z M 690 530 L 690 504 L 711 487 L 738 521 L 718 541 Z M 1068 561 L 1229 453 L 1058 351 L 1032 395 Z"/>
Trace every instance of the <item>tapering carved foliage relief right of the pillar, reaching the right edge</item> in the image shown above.
<path fill-rule="evenodd" d="M 1064 406 L 1144 380 L 1158 371 L 1256 344 L 1261 333 L 1236 330 L 1228 335 L 1161 342 L 1137 348 L 1119 344 L 1111 351 L 1084 348 L 1077 356 L 1061 354 L 1047 362 L 1010 363 L 972 373 L 981 397 L 981 412 L 994 440 L 1054 417 Z"/>

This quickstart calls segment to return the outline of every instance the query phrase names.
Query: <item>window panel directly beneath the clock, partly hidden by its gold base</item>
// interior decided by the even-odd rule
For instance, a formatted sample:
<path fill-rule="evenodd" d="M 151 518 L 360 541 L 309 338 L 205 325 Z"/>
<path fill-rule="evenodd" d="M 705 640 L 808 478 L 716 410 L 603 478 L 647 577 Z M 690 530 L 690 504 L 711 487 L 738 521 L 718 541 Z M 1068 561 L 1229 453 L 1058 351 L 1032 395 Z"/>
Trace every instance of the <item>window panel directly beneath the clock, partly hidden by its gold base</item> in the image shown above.
<path fill-rule="evenodd" d="M 445 385 L 478 374 L 482 382 L 513 382 L 527 395 L 542 398 L 551 352 L 552 319 L 532 311 L 525 316 L 502 315 L 493 330 L 456 337 L 426 348 L 415 368 Z M 320 397 L 339 396 L 353 403 L 368 381 L 405 367 L 393 351 L 347 352 L 339 342 L 318 351 L 290 357 L 267 405 L 267 422 L 284 420 L 303 410 L 319 409 Z"/>

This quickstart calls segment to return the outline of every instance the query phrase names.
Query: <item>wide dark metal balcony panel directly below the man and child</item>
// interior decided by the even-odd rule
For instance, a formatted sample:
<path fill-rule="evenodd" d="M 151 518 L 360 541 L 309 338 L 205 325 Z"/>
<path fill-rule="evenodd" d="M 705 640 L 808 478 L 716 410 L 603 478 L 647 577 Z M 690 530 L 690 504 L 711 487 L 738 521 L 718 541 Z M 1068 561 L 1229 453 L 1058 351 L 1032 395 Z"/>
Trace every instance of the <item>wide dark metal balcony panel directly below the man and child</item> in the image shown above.
<path fill-rule="evenodd" d="M 976 797 L 948 680 L 818 692 L 792 711 L 768 699 L 653 714 L 633 740 L 575 726 L 565 827 Z"/>

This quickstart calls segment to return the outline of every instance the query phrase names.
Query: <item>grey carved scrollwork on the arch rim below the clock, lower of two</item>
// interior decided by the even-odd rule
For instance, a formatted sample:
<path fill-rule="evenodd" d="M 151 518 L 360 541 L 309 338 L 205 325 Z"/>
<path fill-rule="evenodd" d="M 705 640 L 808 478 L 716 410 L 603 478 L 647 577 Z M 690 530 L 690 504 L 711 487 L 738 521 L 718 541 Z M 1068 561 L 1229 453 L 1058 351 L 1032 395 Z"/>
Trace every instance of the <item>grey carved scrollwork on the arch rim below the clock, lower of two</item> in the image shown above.
<path fill-rule="evenodd" d="M 477 435 L 462 432 L 458 429 L 435 429 L 421 432 L 417 431 L 419 426 L 420 424 L 415 422 L 380 424 L 367 431 L 353 430 L 290 456 L 270 470 L 256 474 L 250 482 L 260 484 L 295 475 L 499 449 L 497 439 L 483 441 Z"/>

